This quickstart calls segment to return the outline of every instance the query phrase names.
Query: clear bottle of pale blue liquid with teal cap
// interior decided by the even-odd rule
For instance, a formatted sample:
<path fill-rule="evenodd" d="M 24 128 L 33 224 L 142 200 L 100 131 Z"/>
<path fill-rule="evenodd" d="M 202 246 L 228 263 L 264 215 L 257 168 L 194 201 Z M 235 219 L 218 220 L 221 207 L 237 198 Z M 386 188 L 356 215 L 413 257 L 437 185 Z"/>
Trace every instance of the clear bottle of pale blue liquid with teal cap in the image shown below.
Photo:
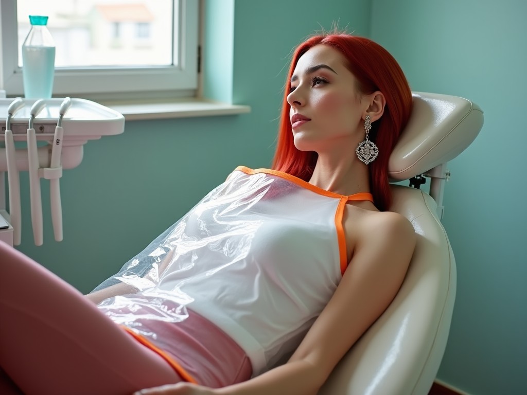
<path fill-rule="evenodd" d="M 55 73 L 55 43 L 48 31 L 47 16 L 30 15 L 31 30 L 22 44 L 24 96 L 50 98 Z"/>

